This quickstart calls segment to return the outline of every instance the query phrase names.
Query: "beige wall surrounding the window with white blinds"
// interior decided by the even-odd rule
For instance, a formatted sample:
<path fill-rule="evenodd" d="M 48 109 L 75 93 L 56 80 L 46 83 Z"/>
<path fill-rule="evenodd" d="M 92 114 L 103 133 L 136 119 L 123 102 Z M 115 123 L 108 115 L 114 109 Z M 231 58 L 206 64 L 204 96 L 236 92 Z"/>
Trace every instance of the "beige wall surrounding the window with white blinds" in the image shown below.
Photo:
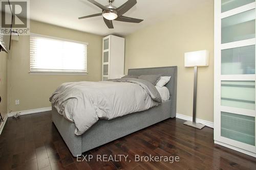
<path fill-rule="evenodd" d="M 101 79 L 101 36 L 37 21 L 30 22 L 30 32 L 88 42 L 89 74 L 30 75 L 29 36 L 19 36 L 19 41 L 12 41 L 11 58 L 8 62 L 8 95 L 11 100 L 9 112 L 50 107 L 50 95 L 63 82 L 99 81 Z M 15 105 L 16 99 L 20 100 L 19 105 Z"/>

